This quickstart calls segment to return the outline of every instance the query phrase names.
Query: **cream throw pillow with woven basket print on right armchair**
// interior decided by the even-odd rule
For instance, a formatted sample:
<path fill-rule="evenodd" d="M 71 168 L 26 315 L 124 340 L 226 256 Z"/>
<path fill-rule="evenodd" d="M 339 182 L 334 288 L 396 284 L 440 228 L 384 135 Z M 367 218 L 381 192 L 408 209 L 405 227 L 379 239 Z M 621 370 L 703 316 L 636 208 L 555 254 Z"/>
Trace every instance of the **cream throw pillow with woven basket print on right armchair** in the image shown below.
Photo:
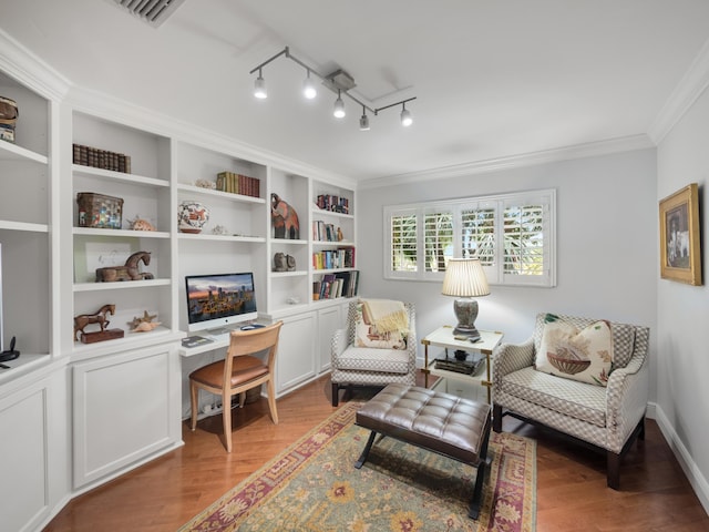
<path fill-rule="evenodd" d="M 613 332 L 605 320 L 578 330 L 547 315 L 535 367 L 566 379 L 607 386 L 613 366 Z"/>

